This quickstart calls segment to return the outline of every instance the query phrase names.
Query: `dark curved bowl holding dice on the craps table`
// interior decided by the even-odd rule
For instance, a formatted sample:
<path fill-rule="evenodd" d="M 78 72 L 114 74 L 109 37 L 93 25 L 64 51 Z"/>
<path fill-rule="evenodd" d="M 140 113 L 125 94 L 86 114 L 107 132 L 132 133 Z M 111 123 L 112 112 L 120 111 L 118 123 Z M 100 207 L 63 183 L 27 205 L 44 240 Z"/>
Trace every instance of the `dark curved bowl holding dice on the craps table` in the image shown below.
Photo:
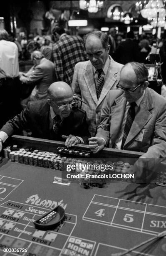
<path fill-rule="evenodd" d="M 47 222 L 45 224 L 41 224 L 40 220 L 42 218 L 45 218 L 47 215 L 49 215 L 53 211 L 57 212 L 55 217 L 52 220 L 50 220 L 49 222 Z M 34 225 L 35 225 L 35 228 L 40 229 L 40 230 L 51 230 L 51 229 L 57 228 L 57 226 L 59 226 L 63 222 L 64 218 L 65 218 L 64 209 L 61 206 L 57 206 L 50 212 L 48 212 L 45 215 L 43 215 L 42 217 L 40 217 L 38 220 L 34 221 Z"/>

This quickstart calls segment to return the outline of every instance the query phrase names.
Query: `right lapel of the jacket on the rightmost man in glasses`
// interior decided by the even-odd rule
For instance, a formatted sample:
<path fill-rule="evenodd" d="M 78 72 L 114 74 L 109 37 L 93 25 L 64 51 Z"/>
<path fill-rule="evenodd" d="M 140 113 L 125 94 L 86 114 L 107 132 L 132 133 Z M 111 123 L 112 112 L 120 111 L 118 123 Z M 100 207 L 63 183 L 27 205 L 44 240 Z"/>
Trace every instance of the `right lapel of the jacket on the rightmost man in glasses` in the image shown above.
<path fill-rule="evenodd" d="M 152 114 L 149 110 L 154 108 L 149 91 L 146 89 L 144 98 L 142 99 L 141 104 L 139 105 L 138 113 L 136 113 L 134 122 L 131 126 L 129 134 L 126 138 L 124 146 L 127 145 L 138 133 L 144 128 L 146 123 L 151 119 Z"/>

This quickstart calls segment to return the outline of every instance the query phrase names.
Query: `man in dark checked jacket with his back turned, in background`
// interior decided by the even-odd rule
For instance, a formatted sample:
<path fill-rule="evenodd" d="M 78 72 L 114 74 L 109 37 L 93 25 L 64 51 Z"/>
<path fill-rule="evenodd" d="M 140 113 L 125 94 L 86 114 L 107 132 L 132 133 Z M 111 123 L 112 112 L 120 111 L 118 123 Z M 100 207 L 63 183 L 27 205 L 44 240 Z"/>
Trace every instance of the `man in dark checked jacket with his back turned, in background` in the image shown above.
<path fill-rule="evenodd" d="M 88 59 L 82 38 L 69 36 L 65 33 L 64 28 L 60 27 L 55 27 L 52 33 L 58 40 L 53 45 L 53 61 L 57 81 L 64 81 L 71 86 L 75 64 Z"/>

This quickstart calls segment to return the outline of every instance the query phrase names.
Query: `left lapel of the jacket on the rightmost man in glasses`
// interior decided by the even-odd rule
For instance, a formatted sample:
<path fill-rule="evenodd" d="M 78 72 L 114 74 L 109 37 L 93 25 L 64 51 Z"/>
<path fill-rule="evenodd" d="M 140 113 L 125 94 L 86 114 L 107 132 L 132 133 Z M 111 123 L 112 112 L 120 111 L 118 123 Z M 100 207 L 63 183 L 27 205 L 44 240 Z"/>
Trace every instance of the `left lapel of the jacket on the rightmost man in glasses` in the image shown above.
<path fill-rule="evenodd" d="M 112 146 L 115 143 L 115 139 L 119 137 L 121 125 L 123 123 L 126 99 L 122 94 L 115 100 L 115 102 L 116 105 L 111 107 L 110 137 Z"/>

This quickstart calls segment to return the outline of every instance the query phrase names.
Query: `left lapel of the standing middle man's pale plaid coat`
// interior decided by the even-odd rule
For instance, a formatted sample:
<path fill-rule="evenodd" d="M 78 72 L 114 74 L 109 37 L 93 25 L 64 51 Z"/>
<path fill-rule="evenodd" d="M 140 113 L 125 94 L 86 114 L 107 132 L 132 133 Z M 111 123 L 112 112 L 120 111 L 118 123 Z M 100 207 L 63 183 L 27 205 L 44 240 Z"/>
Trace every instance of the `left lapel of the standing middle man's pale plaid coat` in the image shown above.
<path fill-rule="evenodd" d="M 89 90 L 92 100 L 96 103 L 97 105 L 97 93 L 96 93 L 96 87 L 95 87 L 95 82 L 94 82 L 94 75 L 93 75 L 93 66 L 89 62 L 86 67 L 86 71 L 84 73 L 84 79 L 87 84 L 87 90 Z"/>

